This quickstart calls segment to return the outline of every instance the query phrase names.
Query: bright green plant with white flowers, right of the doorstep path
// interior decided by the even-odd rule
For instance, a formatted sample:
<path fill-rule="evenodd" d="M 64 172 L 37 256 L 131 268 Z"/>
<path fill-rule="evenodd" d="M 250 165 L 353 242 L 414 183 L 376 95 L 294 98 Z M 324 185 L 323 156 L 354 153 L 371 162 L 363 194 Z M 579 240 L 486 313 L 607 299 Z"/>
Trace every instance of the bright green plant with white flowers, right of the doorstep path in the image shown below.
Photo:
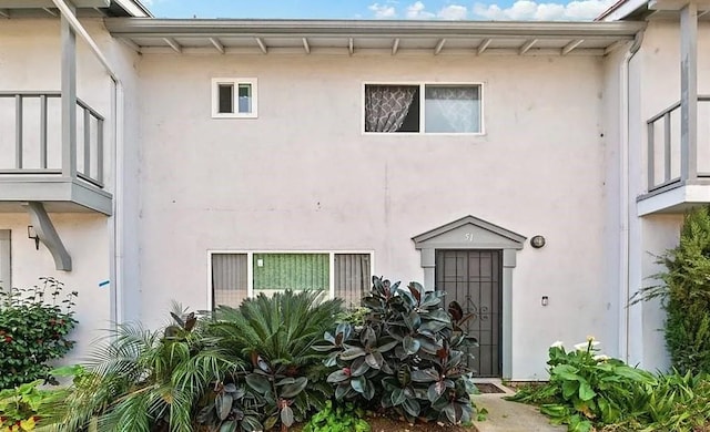
<path fill-rule="evenodd" d="M 570 351 L 560 342 L 554 343 L 547 362 L 549 382 L 507 399 L 539 404 L 540 412 L 575 432 L 619 423 L 645 412 L 647 389 L 656 383 L 653 376 L 599 354 L 597 344 L 591 337 Z"/>

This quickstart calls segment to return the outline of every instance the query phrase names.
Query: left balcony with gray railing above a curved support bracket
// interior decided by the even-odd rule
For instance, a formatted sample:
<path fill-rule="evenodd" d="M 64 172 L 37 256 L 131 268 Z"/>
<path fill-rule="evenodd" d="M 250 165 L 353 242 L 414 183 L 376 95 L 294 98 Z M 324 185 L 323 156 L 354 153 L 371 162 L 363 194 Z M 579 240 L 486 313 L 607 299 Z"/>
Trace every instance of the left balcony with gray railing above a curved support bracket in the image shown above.
<path fill-rule="evenodd" d="M 0 212 L 40 202 L 48 212 L 111 214 L 104 117 L 77 99 L 75 136 L 68 141 L 61 104 L 60 92 L 0 92 Z"/>

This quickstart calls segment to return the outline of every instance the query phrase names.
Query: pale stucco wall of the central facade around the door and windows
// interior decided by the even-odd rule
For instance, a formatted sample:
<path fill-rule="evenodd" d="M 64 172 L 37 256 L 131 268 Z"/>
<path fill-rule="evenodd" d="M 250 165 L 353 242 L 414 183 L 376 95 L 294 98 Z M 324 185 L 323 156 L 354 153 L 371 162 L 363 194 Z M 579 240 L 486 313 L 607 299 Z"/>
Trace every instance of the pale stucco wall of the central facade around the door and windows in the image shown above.
<path fill-rule="evenodd" d="M 210 249 L 373 249 L 376 274 L 420 280 L 410 238 L 471 214 L 548 241 L 518 253 L 514 378 L 546 378 L 558 339 L 595 335 L 613 354 L 602 71 L 571 56 L 143 55 L 143 320 L 171 299 L 207 305 Z M 257 78 L 258 119 L 212 120 L 214 76 Z M 363 135 L 368 81 L 484 82 L 487 135 Z"/>

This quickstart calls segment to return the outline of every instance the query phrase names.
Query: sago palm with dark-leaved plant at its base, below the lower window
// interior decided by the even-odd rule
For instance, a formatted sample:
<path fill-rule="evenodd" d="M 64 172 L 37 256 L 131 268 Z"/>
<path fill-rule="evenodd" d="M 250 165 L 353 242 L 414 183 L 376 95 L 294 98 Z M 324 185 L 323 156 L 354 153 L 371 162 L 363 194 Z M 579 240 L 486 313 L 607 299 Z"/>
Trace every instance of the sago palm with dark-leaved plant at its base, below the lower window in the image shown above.
<path fill-rule="evenodd" d="M 322 301 L 321 296 L 286 290 L 246 299 L 239 309 L 216 310 L 210 335 L 230 356 L 251 364 L 251 370 L 219 383 L 222 390 L 203 410 L 201 421 L 213 425 L 237 421 L 242 430 L 255 430 L 251 428 L 257 423 L 248 420 L 248 412 L 258 409 L 265 414 L 260 419 L 265 429 L 278 422 L 288 428 L 325 407 L 332 395 L 325 382 L 325 354 L 312 346 L 335 325 L 342 301 Z"/>

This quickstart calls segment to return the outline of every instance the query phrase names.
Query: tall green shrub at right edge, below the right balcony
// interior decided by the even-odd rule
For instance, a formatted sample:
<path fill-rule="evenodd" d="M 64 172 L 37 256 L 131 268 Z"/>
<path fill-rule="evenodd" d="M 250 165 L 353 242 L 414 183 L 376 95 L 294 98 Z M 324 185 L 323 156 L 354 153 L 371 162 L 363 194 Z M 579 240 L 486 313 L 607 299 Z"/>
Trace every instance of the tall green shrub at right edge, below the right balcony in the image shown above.
<path fill-rule="evenodd" d="M 710 207 L 686 215 L 680 244 L 659 260 L 663 284 L 641 290 L 638 300 L 660 298 L 666 309 L 666 344 L 673 368 L 710 372 Z"/>

